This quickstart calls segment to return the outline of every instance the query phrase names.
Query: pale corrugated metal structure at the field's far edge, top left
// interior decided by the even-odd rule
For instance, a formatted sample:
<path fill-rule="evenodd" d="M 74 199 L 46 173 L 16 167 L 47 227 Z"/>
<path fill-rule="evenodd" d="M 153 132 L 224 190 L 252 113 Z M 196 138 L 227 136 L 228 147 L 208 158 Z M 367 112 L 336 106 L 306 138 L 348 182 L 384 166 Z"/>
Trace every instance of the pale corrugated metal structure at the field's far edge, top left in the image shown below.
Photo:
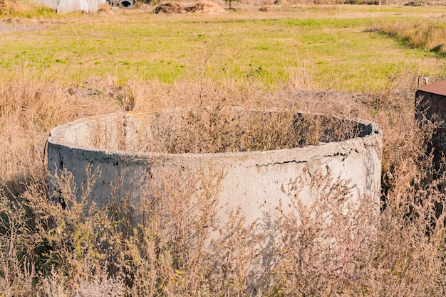
<path fill-rule="evenodd" d="M 37 4 L 54 9 L 58 13 L 67 13 L 73 11 L 85 11 L 87 13 L 97 12 L 100 4 L 106 0 L 33 0 Z"/>

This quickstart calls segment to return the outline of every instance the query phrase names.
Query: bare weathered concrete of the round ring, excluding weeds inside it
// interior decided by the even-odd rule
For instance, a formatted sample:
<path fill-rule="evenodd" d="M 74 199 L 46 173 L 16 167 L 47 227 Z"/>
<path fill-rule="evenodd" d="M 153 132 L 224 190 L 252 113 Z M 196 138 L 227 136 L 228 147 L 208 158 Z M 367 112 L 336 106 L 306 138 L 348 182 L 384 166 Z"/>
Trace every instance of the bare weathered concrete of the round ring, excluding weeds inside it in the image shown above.
<path fill-rule="evenodd" d="M 87 180 L 85 168 L 98 168 L 100 178 L 88 199 L 102 205 L 110 197 L 132 197 L 138 209 L 147 178 L 156 178 L 160 171 L 222 171 L 217 207 L 221 224 L 237 207 L 247 223 L 274 212 L 280 202 L 287 207 L 290 198 L 281 189 L 297 177 L 305 204 L 320 195 L 312 184 L 320 175 L 329 175 L 333 184 L 338 178 L 347 180 L 353 202 L 364 196 L 380 199 L 382 134 L 372 122 L 354 120 L 363 127 L 360 136 L 318 146 L 241 153 L 135 151 L 141 141 L 156 141 L 152 131 L 144 129 L 151 120 L 150 114 L 110 114 L 58 126 L 48 138 L 51 175 L 64 168 L 81 187 Z"/>

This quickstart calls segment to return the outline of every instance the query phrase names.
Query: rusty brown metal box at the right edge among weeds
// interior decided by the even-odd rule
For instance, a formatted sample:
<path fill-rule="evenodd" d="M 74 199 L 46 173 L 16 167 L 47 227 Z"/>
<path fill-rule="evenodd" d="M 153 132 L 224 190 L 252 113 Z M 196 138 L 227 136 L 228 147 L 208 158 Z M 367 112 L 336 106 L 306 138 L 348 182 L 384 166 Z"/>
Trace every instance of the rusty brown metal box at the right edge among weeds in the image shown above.
<path fill-rule="evenodd" d="M 431 85 L 418 87 L 415 93 L 415 117 L 419 121 L 429 120 L 438 126 L 430 141 L 434 149 L 435 168 L 440 168 L 442 157 L 446 152 L 446 80 L 435 82 Z"/>

